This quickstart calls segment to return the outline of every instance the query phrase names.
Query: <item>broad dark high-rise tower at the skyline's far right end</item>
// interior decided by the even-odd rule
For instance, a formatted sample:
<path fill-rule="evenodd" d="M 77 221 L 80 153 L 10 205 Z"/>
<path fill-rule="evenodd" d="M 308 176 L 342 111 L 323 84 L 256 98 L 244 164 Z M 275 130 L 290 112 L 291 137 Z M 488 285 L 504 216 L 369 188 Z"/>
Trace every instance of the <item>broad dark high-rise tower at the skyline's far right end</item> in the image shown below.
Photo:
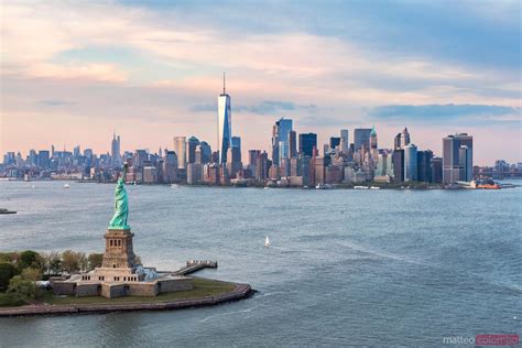
<path fill-rule="evenodd" d="M 443 183 L 472 180 L 474 138 L 467 133 L 443 138 Z"/>

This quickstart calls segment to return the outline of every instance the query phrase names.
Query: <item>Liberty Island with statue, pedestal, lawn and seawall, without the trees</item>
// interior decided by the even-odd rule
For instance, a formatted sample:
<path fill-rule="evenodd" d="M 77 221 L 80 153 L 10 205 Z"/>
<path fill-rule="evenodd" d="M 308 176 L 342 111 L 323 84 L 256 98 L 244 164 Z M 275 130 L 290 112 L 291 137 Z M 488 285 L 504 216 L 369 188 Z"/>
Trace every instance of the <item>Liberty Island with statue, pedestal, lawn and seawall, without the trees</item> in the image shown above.
<path fill-rule="evenodd" d="M 187 276 L 204 268 L 217 268 L 217 262 L 192 260 L 178 271 L 157 271 L 155 268 L 143 267 L 134 254 L 132 242 L 134 233 L 131 232 L 128 224 L 129 199 L 124 188 L 126 173 L 127 166 L 115 189 L 115 214 L 105 235 L 106 250 L 101 267 L 90 272 L 51 278 L 50 286 L 54 295 L 53 298 L 47 296 L 51 306 L 47 303 L 45 306 L 8 307 L 0 309 L 0 316 L 173 309 L 239 300 L 252 292 L 248 284 Z M 211 296 L 198 296 L 202 293 L 200 289 L 198 291 L 195 287 L 202 286 L 207 290 L 215 286 L 217 291 L 213 291 Z M 172 295 L 173 293 L 177 294 Z M 153 300 L 145 300 L 140 303 L 139 300 L 134 300 L 126 305 L 117 303 L 116 307 L 112 306 L 115 304 L 110 300 L 126 296 L 157 297 L 159 301 L 155 303 Z M 81 298 L 88 298 L 88 301 L 81 301 Z"/>

